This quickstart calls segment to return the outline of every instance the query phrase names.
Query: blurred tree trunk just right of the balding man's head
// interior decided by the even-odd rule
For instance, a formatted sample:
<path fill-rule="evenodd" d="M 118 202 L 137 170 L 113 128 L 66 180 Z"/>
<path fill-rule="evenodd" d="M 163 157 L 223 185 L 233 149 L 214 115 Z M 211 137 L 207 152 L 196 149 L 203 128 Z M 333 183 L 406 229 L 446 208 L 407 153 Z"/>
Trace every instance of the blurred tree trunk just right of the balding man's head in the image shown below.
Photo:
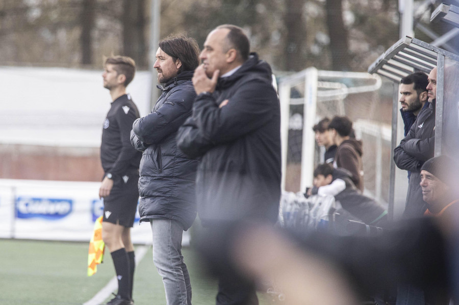
<path fill-rule="evenodd" d="M 303 19 L 304 0 L 287 0 L 285 41 L 285 68 L 288 71 L 300 71 L 304 69 L 303 45 L 306 40 L 306 26 Z"/>

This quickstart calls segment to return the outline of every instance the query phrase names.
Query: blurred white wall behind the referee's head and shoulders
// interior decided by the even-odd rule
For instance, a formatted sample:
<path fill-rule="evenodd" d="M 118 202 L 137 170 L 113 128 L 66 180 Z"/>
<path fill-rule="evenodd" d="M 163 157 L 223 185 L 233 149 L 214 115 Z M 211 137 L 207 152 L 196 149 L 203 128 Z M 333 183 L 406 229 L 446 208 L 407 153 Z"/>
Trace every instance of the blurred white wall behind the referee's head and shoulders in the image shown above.
<path fill-rule="evenodd" d="M 0 143 L 99 147 L 110 109 L 102 70 L 0 67 Z M 150 113 L 150 73 L 127 86 L 141 116 Z M 156 86 L 156 80 L 155 84 Z"/>

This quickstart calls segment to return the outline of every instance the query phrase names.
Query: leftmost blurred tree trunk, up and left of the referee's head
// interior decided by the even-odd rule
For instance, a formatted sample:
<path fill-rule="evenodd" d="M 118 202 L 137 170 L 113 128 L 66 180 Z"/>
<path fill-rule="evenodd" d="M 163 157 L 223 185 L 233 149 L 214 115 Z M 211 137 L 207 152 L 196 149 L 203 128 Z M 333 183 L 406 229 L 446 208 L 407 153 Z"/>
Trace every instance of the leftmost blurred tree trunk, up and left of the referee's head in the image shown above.
<path fill-rule="evenodd" d="M 81 63 L 83 65 L 92 64 L 92 30 L 95 20 L 95 2 L 96 0 L 83 0 L 82 11 L 80 15 L 81 34 Z"/>

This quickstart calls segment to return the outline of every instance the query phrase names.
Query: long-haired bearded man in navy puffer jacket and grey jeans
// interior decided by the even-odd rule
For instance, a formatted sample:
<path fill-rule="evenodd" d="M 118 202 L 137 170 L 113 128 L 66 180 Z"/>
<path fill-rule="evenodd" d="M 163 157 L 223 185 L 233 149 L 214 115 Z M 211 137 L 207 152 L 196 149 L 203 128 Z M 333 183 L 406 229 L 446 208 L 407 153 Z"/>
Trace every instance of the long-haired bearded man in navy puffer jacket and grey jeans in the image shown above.
<path fill-rule="evenodd" d="M 196 217 L 194 180 L 197 160 L 175 141 L 191 115 L 196 93 L 191 82 L 199 65 L 199 47 L 186 36 L 159 42 L 154 68 L 162 94 L 152 112 L 133 124 L 131 143 L 143 151 L 140 162 L 140 221 L 149 221 L 153 261 L 163 278 L 168 305 L 191 304 L 191 282 L 182 256 L 182 235 Z"/>

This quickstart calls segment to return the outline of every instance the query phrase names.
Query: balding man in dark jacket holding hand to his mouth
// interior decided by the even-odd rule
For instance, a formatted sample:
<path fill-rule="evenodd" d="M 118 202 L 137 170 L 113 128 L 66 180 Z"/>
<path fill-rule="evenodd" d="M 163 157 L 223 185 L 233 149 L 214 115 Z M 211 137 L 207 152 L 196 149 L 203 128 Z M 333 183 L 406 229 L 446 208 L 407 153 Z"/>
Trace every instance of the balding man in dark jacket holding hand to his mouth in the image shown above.
<path fill-rule="evenodd" d="M 278 214 L 279 101 L 270 66 L 249 47 L 235 25 L 220 25 L 207 36 L 193 76 L 193 115 L 179 129 L 180 149 L 201 157 L 198 214 L 209 234 L 239 220 L 274 224 Z M 252 283 L 225 270 L 216 303 L 258 304 L 258 298 Z"/>

